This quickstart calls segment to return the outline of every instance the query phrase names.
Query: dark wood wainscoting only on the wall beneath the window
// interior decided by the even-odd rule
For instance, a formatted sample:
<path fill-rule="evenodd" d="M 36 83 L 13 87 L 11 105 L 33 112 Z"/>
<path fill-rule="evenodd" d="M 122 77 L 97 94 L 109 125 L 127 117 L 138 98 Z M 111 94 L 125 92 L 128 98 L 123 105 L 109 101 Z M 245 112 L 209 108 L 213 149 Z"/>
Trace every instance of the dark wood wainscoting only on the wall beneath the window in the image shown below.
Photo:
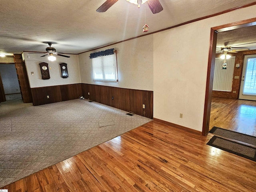
<path fill-rule="evenodd" d="M 86 99 L 153 119 L 153 91 L 82 84 L 82 92 Z"/>

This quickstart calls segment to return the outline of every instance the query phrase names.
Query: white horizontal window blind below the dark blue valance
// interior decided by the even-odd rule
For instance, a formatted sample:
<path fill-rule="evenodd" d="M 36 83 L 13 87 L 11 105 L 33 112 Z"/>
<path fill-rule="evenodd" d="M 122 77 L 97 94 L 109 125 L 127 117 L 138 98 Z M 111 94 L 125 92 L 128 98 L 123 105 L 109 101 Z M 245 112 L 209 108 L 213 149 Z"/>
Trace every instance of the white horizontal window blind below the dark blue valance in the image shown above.
<path fill-rule="evenodd" d="M 112 55 L 92 58 L 92 72 L 94 81 L 117 82 L 116 52 Z"/>

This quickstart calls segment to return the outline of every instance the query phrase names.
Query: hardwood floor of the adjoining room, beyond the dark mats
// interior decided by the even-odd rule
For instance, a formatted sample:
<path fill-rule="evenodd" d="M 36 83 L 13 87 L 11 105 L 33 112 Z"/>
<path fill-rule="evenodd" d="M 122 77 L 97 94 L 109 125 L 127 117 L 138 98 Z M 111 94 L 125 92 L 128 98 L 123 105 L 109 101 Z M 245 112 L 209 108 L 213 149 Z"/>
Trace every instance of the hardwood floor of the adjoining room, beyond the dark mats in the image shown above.
<path fill-rule="evenodd" d="M 256 136 L 256 101 L 212 98 L 210 126 Z"/>

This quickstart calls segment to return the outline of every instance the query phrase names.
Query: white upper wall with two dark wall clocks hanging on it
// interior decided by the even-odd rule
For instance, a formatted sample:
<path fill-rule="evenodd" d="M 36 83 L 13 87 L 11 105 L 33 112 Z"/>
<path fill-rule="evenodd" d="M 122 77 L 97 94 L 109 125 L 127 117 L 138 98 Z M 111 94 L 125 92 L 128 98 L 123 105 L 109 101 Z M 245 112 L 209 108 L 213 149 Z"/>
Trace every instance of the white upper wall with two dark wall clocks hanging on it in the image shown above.
<path fill-rule="evenodd" d="M 26 63 L 28 80 L 31 88 L 64 84 L 76 84 L 81 82 L 78 55 L 65 54 L 70 56 L 70 58 L 56 56 L 56 61 L 54 62 L 49 61 L 47 56 L 40 57 L 42 55 L 43 54 L 30 54 L 29 52 L 23 52 L 22 54 L 22 58 L 25 60 Z M 39 66 L 39 63 L 41 62 L 48 63 L 48 66 L 50 68 L 50 79 L 42 79 Z M 68 78 L 61 77 L 60 63 L 68 64 Z M 34 75 L 32 75 L 31 72 L 34 72 Z"/>

